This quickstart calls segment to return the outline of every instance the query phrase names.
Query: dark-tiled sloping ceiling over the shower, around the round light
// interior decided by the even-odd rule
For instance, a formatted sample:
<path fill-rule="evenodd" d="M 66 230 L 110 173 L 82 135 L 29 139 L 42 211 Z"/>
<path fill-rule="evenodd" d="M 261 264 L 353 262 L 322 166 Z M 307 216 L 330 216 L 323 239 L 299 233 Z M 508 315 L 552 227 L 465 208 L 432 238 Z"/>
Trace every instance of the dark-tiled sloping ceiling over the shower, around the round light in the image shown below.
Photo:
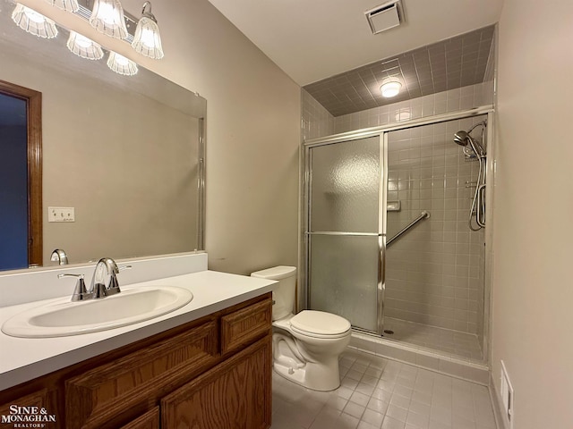
<path fill-rule="evenodd" d="M 333 116 L 482 83 L 495 26 L 475 29 L 429 46 L 319 80 L 304 89 Z M 382 97 L 381 84 L 398 80 L 398 96 Z"/>

